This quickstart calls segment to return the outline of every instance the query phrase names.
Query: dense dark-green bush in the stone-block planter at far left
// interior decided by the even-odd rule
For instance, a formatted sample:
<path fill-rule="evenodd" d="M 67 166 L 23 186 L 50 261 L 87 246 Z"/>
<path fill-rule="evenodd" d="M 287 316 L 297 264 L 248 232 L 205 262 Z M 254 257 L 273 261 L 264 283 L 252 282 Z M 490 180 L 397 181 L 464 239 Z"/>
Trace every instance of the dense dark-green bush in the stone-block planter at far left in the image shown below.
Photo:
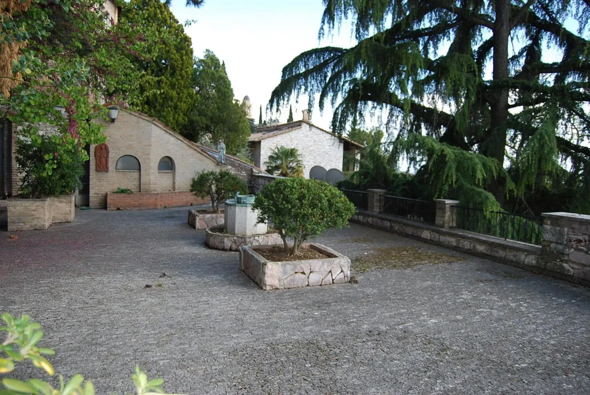
<path fill-rule="evenodd" d="M 73 193 L 81 187 L 88 155 L 77 145 L 65 149 L 61 136 L 17 139 L 16 160 L 22 171 L 22 195 L 30 198 Z"/>

